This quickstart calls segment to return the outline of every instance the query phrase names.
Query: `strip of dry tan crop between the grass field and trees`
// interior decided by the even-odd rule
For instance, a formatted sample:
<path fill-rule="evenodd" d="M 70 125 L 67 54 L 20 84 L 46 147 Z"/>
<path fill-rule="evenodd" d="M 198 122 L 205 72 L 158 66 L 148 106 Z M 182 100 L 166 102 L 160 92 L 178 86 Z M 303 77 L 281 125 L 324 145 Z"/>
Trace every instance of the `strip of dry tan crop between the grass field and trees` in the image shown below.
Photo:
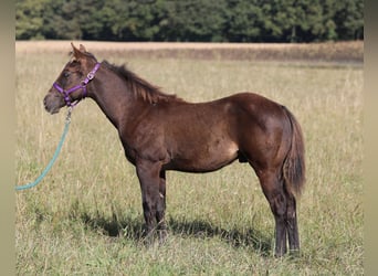
<path fill-rule="evenodd" d="M 69 41 L 20 41 L 17 51 L 21 53 L 64 53 Z M 93 42 L 77 41 L 92 52 L 118 53 L 139 57 L 242 60 L 242 61 L 306 61 L 361 63 L 364 42 L 328 42 L 317 44 L 294 43 L 168 43 L 168 42 Z"/>

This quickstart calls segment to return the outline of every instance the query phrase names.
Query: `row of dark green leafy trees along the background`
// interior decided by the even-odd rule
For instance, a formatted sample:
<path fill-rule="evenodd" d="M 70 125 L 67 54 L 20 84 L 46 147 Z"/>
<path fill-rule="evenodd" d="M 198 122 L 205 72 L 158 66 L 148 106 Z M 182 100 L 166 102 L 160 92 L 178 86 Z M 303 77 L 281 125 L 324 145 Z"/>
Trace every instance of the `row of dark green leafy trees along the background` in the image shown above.
<path fill-rule="evenodd" d="M 364 0 L 17 0 L 17 40 L 364 39 Z"/>

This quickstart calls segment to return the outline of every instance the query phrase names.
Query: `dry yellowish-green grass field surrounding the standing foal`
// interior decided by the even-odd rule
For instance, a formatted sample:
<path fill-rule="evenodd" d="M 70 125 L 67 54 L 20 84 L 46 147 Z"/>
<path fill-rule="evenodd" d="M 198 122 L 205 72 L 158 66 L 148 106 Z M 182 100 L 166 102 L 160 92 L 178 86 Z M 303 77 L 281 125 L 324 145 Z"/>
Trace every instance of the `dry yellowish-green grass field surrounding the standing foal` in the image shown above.
<path fill-rule="evenodd" d="M 15 44 L 17 184 L 39 176 L 62 134 L 64 109 L 51 116 L 42 99 L 69 60 L 65 43 L 64 51 L 45 53 L 41 42 Z M 50 174 L 39 187 L 17 192 L 18 275 L 364 274 L 360 63 L 171 59 L 106 45 L 93 50 L 99 60 L 127 63 L 187 100 L 253 91 L 293 112 L 307 162 L 298 201 L 301 256 L 272 256 L 273 215 L 253 171 L 240 163 L 207 174 L 169 172 L 170 235 L 161 247 L 145 247 L 134 167 L 116 130 L 87 99 L 74 109 Z"/>

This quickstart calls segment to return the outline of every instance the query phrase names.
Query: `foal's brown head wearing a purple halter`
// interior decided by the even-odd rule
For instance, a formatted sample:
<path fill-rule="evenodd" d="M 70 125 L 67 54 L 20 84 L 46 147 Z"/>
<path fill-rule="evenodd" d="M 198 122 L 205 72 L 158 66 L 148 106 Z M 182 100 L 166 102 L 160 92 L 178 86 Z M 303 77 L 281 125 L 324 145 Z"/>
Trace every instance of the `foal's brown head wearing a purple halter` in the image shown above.
<path fill-rule="evenodd" d="M 51 114 L 59 113 L 63 106 L 74 106 L 86 97 L 86 86 L 99 67 L 99 63 L 83 45 L 80 49 L 73 43 L 71 45 L 73 54 L 70 62 L 43 99 L 45 109 Z"/>

